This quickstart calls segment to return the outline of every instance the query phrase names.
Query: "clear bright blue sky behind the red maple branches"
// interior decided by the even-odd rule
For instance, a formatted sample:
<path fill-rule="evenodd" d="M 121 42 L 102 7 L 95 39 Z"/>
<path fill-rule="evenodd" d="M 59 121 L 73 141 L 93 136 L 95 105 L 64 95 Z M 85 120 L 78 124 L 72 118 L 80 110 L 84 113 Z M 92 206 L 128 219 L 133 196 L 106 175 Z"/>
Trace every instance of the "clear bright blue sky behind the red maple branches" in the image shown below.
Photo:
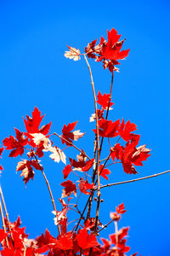
<path fill-rule="evenodd" d="M 83 60 L 65 59 L 66 45 L 83 50 L 106 30 L 114 27 L 127 38 L 130 48 L 120 73 L 114 78 L 112 120 L 124 117 L 138 125 L 140 144 L 152 149 L 139 175 L 144 177 L 169 169 L 169 15 L 168 1 L 1 1 L 0 2 L 0 142 L 14 135 L 14 127 L 26 131 L 22 117 L 37 106 L 52 121 L 51 132 L 61 133 L 64 124 L 78 120 L 77 128 L 86 131 L 77 143 L 88 154 L 93 152 L 93 95 L 88 68 Z M 91 61 L 96 91 L 108 93 L 111 73 L 101 63 Z M 54 138 L 54 143 L 60 145 Z M 105 149 L 106 147 L 104 147 Z M 106 150 L 106 149 L 105 149 Z M 67 156 L 77 152 L 68 149 Z M 55 234 L 53 210 L 40 173 L 25 188 L 15 169 L 20 157 L 9 159 L 4 152 L 1 164 L 3 194 L 9 218 L 18 215 L 27 233 L 35 237 L 47 227 Z M 105 154 L 105 152 L 104 152 Z M 21 157 L 24 158 L 24 157 Z M 61 195 L 63 164 L 45 157 L 42 165 L 51 183 L 56 204 Z M 121 167 L 111 169 L 110 182 L 131 179 Z M 170 176 L 124 184 L 103 190 L 102 222 L 106 223 L 116 205 L 124 202 L 127 213 L 119 227 L 130 226 L 127 244 L 132 253 L 143 256 L 169 255 Z M 105 181 L 103 180 L 103 183 Z M 59 206 L 60 207 L 60 206 Z M 70 216 L 71 218 L 71 216 Z M 108 237 L 113 225 L 103 231 Z"/>

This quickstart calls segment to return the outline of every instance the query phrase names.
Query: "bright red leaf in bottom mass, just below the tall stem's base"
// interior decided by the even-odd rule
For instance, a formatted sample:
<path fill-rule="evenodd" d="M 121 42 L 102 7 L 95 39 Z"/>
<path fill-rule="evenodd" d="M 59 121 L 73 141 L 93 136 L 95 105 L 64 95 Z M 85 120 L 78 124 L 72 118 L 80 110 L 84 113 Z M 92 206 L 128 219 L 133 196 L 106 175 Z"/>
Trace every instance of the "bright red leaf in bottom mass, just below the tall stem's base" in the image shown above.
<path fill-rule="evenodd" d="M 96 236 L 94 234 L 88 235 L 88 230 L 86 228 L 78 231 L 77 242 L 82 250 L 96 247 L 99 245 Z"/>

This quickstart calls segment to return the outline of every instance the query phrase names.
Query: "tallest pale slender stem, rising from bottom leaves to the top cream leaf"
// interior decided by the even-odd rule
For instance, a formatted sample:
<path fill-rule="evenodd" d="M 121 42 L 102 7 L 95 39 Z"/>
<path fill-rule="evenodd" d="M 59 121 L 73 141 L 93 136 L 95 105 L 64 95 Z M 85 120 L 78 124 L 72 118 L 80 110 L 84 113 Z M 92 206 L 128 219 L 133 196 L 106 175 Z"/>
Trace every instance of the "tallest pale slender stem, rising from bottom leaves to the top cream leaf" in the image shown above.
<path fill-rule="evenodd" d="M 95 89 L 94 89 L 94 79 L 93 79 L 93 75 L 92 75 L 92 70 L 91 67 L 88 63 L 88 59 L 86 57 L 86 55 L 84 55 L 84 59 L 88 65 L 88 70 L 90 73 L 90 78 L 91 78 L 91 84 L 92 84 L 92 89 L 93 89 L 93 93 L 94 93 L 94 107 L 95 107 L 95 115 L 96 115 L 96 148 L 97 148 L 97 166 L 96 166 L 96 170 L 97 170 L 97 177 L 98 177 L 98 204 L 97 204 L 97 209 L 96 209 L 96 219 L 95 219 L 95 227 L 94 227 L 94 232 L 96 232 L 97 230 L 97 224 L 98 224 L 98 219 L 99 219 L 99 202 L 100 202 L 100 190 L 99 190 L 99 119 L 98 119 L 98 108 L 97 108 L 97 101 L 96 101 L 96 95 L 95 95 Z"/>

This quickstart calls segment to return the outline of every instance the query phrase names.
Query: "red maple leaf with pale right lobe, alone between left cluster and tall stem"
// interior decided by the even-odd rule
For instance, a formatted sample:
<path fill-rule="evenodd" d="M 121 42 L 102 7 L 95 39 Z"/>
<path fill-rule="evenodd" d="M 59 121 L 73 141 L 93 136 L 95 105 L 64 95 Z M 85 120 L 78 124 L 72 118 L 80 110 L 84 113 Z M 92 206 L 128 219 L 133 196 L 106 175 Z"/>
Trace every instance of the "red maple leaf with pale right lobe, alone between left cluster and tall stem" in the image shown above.
<path fill-rule="evenodd" d="M 71 123 L 69 125 L 64 125 L 62 129 L 62 137 L 65 138 L 69 143 L 67 143 L 64 139 L 61 138 L 61 142 L 66 144 L 67 146 L 71 146 L 72 141 L 77 141 L 78 138 L 82 137 L 85 133 L 80 132 L 80 130 L 72 131 L 77 122 Z"/>

